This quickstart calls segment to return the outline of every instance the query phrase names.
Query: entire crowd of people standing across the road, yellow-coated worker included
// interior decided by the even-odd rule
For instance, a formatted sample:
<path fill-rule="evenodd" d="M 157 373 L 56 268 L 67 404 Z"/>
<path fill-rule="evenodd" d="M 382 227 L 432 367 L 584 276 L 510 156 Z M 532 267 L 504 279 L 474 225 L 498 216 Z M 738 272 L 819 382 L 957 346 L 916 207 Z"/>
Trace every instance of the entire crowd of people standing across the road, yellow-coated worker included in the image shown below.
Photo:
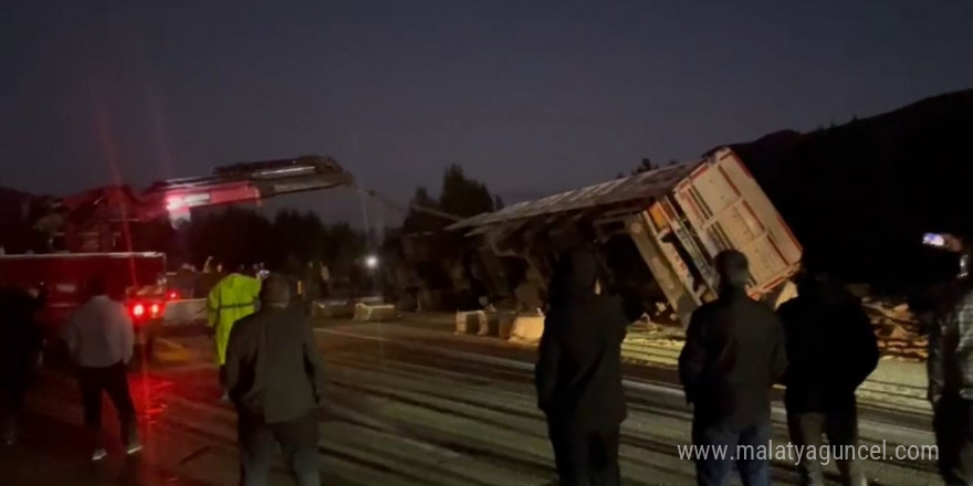
<path fill-rule="evenodd" d="M 973 483 L 973 278 L 962 247 L 961 273 L 912 305 L 930 326 L 930 400 L 939 466 L 949 485 Z M 776 311 L 747 295 L 746 257 L 715 258 L 720 294 L 698 308 L 687 329 L 679 377 L 692 406 L 692 442 L 736 447 L 765 445 L 773 431 L 771 390 L 786 385 L 787 427 L 795 445 L 857 446 L 856 389 L 875 370 L 879 352 L 860 300 L 805 255 L 795 276 L 798 296 Z M 248 274 L 249 273 L 249 274 Z M 128 310 L 105 283 L 85 287 L 87 302 L 64 327 L 79 379 L 92 458 L 105 457 L 102 395 L 118 412 L 128 454 L 140 450 L 126 364 L 133 357 Z M 620 424 L 627 416 L 621 342 L 632 321 L 629 306 L 587 247 L 563 252 L 547 288 L 544 334 L 535 368 L 563 485 L 618 485 Z M 278 443 L 301 485 L 316 485 L 322 359 L 308 309 L 295 305 L 286 277 L 236 272 L 209 290 L 208 321 L 220 364 L 223 399 L 239 414 L 241 484 L 265 484 Z M 17 441 L 18 416 L 41 355 L 34 314 L 40 288 L 0 293 L 0 392 L 3 440 Z M 867 484 L 861 464 L 836 457 L 846 485 Z M 745 485 L 770 483 L 766 456 L 697 458 L 700 485 L 728 484 L 734 466 Z M 801 461 L 801 484 L 825 484 L 820 463 Z"/>

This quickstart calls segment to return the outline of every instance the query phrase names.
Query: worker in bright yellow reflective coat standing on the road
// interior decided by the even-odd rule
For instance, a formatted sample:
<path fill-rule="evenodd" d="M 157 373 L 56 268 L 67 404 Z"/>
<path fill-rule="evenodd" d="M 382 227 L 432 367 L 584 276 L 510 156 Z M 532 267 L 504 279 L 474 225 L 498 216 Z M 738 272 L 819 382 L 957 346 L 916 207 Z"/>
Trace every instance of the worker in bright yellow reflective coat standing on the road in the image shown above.
<path fill-rule="evenodd" d="M 217 364 L 220 366 L 220 385 L 223 388 L 223 400 L 228 400 L 223 364 L 227 362 L 227 342 L 230 330 L 238 319 L 257 311 L 260 295 L 260 278 L 243 275 L 243 271 L 223 277 L 209 292 L 206 302 L 207 321 L 216 341 Z"/>

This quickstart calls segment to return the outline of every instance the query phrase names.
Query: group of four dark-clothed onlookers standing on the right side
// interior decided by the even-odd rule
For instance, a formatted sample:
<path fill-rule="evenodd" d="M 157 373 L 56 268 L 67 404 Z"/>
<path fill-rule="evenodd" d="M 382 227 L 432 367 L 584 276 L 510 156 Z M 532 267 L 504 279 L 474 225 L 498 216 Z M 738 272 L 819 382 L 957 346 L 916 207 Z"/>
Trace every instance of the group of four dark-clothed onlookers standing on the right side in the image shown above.
<path fill-rule="evenodd" d="M 955 240 L 959 241 L 959 240 Z M 930 326 L 929 382 L 939 471 L 948 485 L 973 484 L 973 278 L 966 246 L 952 249 L 961 272 L 913 305 Z M 716 256 L 719 297 L 690 319 L 679 376 L 692 406 L 692 442 L 711 451 L 766 446 L 773 431 L 771 391 L 786 385 L 791 442 L 798 451 L 858 446 L 856 389 L 879 350 L 860 300 L 805 255 L 798 296 L 776 311 L 747 296 L 746 257 Z M 562 484 L 618 485 L 619 427 L 626 418 L 620 348 L 630 319 L 605 288 L 597 257 L 567 252 L 554 268 L 535 369 L 537 404 L 547 416 Z M 767 455 L 695 457 L 698 484 L 770 484 Z M 845 485 L 867 484 L 850 454 L 833 456 Z M 824 485 L 823 466 L 801 457 L 802 485 Z"/>

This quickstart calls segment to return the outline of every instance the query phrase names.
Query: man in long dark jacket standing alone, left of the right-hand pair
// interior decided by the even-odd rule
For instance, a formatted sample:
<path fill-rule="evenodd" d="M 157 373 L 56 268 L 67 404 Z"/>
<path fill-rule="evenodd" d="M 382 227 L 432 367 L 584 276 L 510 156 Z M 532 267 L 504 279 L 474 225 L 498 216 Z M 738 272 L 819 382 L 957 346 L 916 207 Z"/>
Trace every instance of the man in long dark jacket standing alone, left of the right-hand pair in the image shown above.
<path fill-rule="evenodd" d="M 551 278 L 535 381 L 565 486 L 619 484 L 627 325 L 621 303 L 601 292 L 594 253 L 576 250 L 563 256 Z"/>

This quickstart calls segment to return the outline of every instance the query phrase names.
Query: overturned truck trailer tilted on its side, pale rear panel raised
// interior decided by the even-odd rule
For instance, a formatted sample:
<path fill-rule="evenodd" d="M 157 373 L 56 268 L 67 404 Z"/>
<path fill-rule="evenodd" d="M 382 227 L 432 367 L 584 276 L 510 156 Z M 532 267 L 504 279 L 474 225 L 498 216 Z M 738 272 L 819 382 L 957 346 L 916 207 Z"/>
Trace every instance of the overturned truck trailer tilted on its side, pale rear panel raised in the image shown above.
<path fill-rule="evenodd" d="M 449 229 L 482 237 L 490 253 L 520 256 L 545 274 L 545 254 L 565 228 L 578 225 L 598 235 L 616 281 L 657 290 L 683 325 L 715 298 L 719 252 L 746 254 L 749 289 L 756 298 L 780 294 L 802 256 L 797 239 L 729 148 L 703 160 L 513 204 Z M 641 263 L 614 257 L 626 251 Z"/>

